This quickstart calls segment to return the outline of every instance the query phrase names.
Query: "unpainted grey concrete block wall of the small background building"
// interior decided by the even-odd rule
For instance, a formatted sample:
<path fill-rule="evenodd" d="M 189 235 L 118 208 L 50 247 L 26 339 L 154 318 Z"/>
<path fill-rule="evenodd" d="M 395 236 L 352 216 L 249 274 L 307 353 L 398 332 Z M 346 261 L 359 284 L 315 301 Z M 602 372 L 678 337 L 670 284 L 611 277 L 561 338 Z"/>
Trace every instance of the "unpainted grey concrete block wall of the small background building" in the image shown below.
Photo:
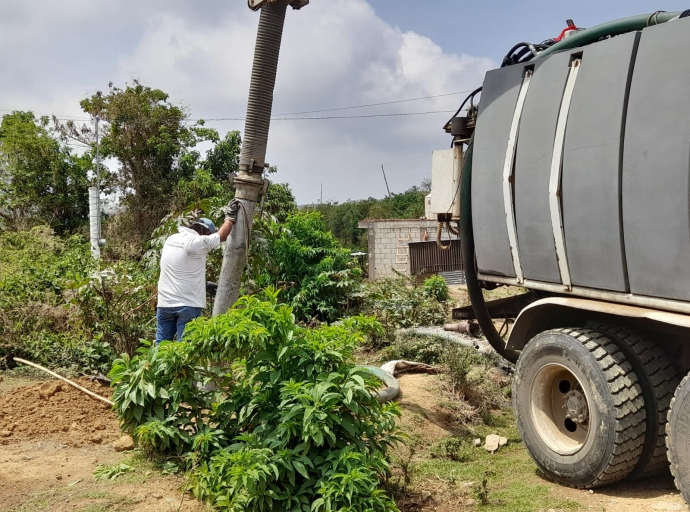
<path fill-rule="evenodd" d="M 393 277 L 393 269 L 410 275 L 409 242 L 436 240 L 435 220 L 385 219 L 366 220 L 359 223 L 360 229 L 368 231 L 369 279 Z M 443 240 L 448 240 L 444 229 Z"/>

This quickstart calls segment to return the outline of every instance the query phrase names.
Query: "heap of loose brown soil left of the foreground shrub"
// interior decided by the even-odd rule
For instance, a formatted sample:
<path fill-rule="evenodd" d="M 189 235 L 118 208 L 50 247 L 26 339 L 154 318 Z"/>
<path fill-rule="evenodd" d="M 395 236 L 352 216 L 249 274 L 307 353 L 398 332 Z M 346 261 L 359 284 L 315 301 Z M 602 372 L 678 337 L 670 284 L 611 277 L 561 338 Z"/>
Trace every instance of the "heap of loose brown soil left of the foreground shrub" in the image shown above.
<path fill-rule="evenodd" d="M 87 377 L 76 382 L 110 398 L 110 388 Z M 110 443 L 119 437 L 117 418 L 107 404 L 60 381 L 27 386 L 0 396 L 0 444 L 49 438 L 78 447 Z"/>

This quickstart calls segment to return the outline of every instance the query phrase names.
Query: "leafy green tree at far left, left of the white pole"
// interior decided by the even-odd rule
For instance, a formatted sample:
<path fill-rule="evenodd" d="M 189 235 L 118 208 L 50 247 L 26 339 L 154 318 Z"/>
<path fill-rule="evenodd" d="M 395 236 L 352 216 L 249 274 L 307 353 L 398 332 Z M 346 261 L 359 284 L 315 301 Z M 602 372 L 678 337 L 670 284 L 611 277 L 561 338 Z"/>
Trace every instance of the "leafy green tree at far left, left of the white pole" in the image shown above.
<path fill-rule="evenodd" d="M 15 111 L 0 124 L 0 217 L 11 229 L 48 224 L 59 234 L 88 219 L 90 161 L 62 146 L 48 118 Z"/>

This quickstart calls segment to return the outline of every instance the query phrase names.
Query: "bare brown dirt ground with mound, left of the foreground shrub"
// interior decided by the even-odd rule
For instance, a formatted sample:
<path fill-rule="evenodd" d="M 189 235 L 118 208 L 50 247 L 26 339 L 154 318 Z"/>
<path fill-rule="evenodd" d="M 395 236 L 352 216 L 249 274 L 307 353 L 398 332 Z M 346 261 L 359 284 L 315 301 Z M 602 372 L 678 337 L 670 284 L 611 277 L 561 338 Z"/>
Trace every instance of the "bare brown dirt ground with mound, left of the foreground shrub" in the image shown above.
<path fill-rule="evenodd" d="M 132 452 L 115 451 L 112 442 L 120 431 L 106 404 L 67 385 L 42 398 L 45 381 L 0 377 L 0 511 L 205 510 L 188 495 L 183 499 L 181 477 L 162 475 Z M 88 379 L 78 383 L 109 395 L 108 388 Z M 123 462 L 136 471 L 112 481 L 94 480 L 99 464 Z"/>

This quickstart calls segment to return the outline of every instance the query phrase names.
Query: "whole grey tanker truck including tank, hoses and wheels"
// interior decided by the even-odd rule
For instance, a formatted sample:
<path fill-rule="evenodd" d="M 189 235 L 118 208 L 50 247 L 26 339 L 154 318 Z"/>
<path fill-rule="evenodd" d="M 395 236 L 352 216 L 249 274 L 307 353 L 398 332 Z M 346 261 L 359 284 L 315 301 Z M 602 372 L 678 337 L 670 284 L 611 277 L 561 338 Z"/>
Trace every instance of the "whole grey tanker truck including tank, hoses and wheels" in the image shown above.
<path fill-rule="evenodd" d="M 533 459 L 580 488 L 670 461 L 688 501 L 686 17 L 658 11 L 577 33 L 569 22 L 567 43 L 520 43 L 487 73 L 478 107 L 446 128 L 467 144 L 459 231 L 472 310 L 454 316 L 476 317 L 517 363 L 516 422 Z M 496 286 L 532 301 L 507 342 L 491 319 L 505 304 L 481 293 Z"/>

